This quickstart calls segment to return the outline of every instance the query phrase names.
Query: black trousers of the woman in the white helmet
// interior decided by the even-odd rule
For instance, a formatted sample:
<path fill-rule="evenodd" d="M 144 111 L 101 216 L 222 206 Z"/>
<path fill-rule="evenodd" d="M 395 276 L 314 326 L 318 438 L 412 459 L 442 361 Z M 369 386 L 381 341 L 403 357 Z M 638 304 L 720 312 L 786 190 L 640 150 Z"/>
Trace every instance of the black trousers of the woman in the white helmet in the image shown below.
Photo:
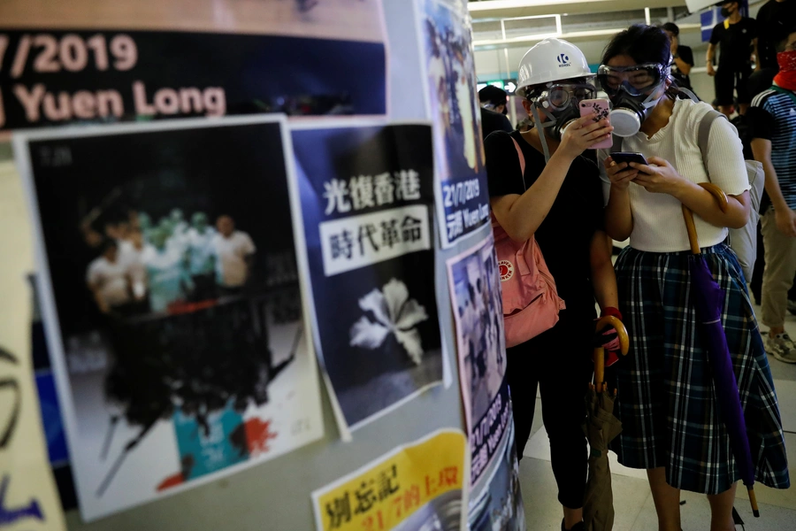
<path fill-rule="evenodd" d="M 558 501 L 570 509 L 583 506 L 586 488 L 586 437 L 581 423 L 584 396 L 591 379 L 593 316 L 569 310 L 544 334 L 507 349 L 509 389 L 514 408 L 517 457 L 522 458 L 531 435 L 536 389 L 542 398 L 542 420 L 550 453 Z"/>

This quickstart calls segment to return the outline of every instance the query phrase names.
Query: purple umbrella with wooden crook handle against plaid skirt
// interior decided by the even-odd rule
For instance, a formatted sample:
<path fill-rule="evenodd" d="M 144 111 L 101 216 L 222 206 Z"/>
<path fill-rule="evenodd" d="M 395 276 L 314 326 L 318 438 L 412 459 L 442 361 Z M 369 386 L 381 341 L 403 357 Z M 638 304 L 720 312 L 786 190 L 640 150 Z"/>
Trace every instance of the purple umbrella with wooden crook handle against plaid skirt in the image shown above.
<path fill-rule="evenodd" d="M 727 209 L 727 196 L 715 184 L 700 183 L 719 202 L 722 212 Z M 738 393 L 738 381 L 732 369 L 730 350 L 727 348 L 727 336 L 722 327 L 722 310 L 724 292 L 710 273 L 708 263 L 702 257 L 700 244 L 697 240 L 696 227 L 693 224 L 693 213 L 683 205 L 685 227 L 688 229 L 688 241 L 691 243 L 693 255 L 688 259 L 691 272 L 692 300 L 697 320 L 701 325 L 702 342 L 708 350 L 708 359 L 713 371 L 713 383 L 716 387 L 716 400 L 719 414 L 727 434 L 730 435 L 730 447 L 738 463 L 741 479 L 749 491 L 749 503 L 755 517 L 760 517 L 757 499 L 754 496 L 754 464 L 752 452 L 749 450 L 749 439 L 746 436 L 746 419 Z"/>

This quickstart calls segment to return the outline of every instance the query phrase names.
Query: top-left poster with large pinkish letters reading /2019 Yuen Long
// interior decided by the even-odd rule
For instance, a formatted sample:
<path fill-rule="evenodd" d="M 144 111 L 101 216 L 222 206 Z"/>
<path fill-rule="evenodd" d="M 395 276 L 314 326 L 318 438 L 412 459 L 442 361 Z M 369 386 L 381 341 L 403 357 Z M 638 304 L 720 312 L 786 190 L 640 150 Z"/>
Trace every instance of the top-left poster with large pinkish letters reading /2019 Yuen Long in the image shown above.
<path fill-rule="evenodd" d="M 384 115 L 384 28 L 379 0 L 4 0 L 0 129 Z"/>

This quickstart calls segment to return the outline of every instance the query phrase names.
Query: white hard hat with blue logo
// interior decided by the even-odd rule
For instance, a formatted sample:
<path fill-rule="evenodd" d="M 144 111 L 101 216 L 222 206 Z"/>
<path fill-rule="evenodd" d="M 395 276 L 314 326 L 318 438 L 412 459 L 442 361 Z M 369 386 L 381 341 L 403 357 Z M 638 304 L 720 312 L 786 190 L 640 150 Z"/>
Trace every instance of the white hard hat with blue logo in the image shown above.
<path fill-rule="evenodd" d="M 517 96 L 527 96 L 528 87 L 550 81 L 591 77 L 586 56 L 571 42 L 549 38 L 532 46 L 520 61 Z"/>

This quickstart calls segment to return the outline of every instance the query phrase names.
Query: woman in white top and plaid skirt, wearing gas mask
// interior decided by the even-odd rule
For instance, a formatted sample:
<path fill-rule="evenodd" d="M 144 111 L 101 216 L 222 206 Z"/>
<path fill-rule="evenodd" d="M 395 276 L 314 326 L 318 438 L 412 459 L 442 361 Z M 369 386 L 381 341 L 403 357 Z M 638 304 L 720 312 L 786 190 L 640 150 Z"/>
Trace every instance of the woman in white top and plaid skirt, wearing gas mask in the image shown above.
<path fill-rule="evenodd" d="M 771 373 L 738 258 L 724 241 L 728 227 L 749 219 L 743 148 L 726 119 L 712 122 L 703 161 L 705 103 L 678 99 L 668 72 L 668 36 L 633 26 L 608 44 L 599 77 L 616 109 L 633 113 L 635 133 L 621 150 L 647 164 L 617 164 L 601 152 L 605 225 L 615 240 L 630 238 L 616 261 L 619 309 L 631 350 L 616 364 L 616 406 L 622 434 L 611 444 L 619 462 L 647 469 L 658 529 L 680 529 L 680 489 L 708 495 L 712 531 L 731 531 L 739 468 L 719 419 L 708 352 L 692 306 L 690 243 L 682 205 L 694 213 L 702 254 L 723 289 L 722 321 L 754 449 L 756 481 L 789 486 L 785 440 Z M 618 130 L 614 114 L 611 123 Z M 630 120 L 627 122 L 630 124 Z M 709 177 L 708 177 L 709 176 Z M 711 181 L 729 199 L 722 212 L 699 183 Z"/>

